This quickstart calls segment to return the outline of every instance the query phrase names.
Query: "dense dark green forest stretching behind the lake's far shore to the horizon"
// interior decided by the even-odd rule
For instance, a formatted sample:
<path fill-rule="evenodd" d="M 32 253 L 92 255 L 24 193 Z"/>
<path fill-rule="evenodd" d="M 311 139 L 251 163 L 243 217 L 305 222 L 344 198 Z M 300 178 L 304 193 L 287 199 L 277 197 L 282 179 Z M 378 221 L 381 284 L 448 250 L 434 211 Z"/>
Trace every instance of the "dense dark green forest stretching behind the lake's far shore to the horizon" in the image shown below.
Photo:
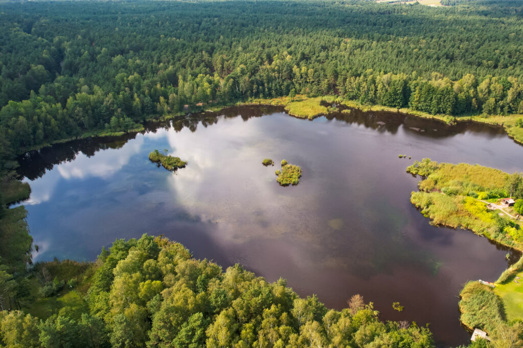
<path fill-rule="evenodd" d="M 517 1 L 2 3 L 0 156 L 187 107 L 295 93 L 431 114 L 522 113 L 522 10 Z"/>

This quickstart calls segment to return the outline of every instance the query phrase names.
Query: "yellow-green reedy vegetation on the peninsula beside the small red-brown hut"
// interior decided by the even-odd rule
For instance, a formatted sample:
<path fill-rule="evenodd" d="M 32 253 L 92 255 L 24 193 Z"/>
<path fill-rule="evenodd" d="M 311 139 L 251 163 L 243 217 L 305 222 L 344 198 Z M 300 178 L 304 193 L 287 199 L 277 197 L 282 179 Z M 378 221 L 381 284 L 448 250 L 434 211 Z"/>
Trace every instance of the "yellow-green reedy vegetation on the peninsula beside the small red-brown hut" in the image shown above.
<path fill-rule="evenodd" d="M 521 174 L 510 175 L 477 164 L 438 164 L 430 159 L 415 161 L 407 172 L 425 176 L 418 184 L 422 191 L 413 192 L 411 202 L 433 219 L 432 223 L 470 229 L 498 243 L 523 249 L 519 226 L 487 211 L 485 203 L 475 199 L 507 197 L 508 192 L 518 197 L 523 190 Z"/>

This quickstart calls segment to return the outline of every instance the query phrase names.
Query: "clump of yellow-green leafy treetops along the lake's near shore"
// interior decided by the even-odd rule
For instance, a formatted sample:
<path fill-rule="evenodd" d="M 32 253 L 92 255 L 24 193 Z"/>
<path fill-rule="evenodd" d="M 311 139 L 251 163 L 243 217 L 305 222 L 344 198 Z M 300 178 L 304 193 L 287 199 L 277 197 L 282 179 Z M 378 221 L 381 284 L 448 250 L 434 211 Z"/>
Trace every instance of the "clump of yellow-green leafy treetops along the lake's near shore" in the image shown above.
<path fill-rule="evenodd" d="M 327 310 L 316 296 L 299 298 L 285 280 L 267 283 L 239 265 L 222 272 L 162 237 L 116 241 L 93 278 L 90 318 L 104 322 L 100 332 L 115 346 L 432 345 L 427 329 L 384 324 L 362 298 L 350 310 Z"/>

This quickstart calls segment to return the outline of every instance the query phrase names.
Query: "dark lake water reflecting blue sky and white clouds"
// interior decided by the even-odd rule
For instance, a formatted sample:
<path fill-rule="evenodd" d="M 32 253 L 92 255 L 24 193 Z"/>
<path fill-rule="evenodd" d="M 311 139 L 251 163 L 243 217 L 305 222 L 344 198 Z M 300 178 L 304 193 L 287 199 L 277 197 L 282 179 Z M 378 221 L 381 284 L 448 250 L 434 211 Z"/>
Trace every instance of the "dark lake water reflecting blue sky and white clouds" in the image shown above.
<path fill-rule="evenodd" d="M 328 307 L 342 308 L 359 293 L 382 319 L 430 323 L 439 343 L 469 341 L 459 291 L 468 280 L 497 279 L 508 250 L 470 231 L 429 225 L 410 203 L 419 178 L 405 168 L 428 157 L 523 171 L 521 146 L 499 128 L 394 113 L 308 121 L 241 107 L 218 115 L 26 154 L 20 175 L 32 188 L 24 204 L 40 246 L 34 259 L 94 260 L 116 238 L 164 234 L 197 258 L 239 262 L 269 281 L 286 278 Z M 187 167 L 158 168 L 147 158 L 154 149 L 168 149 Z M 264 158 L 278 164 L 265 167 Z M 277 184 L 282 159 L 302 167 L 299 185 Z M 395 301 L 405 306 L 401 313 Z"/>

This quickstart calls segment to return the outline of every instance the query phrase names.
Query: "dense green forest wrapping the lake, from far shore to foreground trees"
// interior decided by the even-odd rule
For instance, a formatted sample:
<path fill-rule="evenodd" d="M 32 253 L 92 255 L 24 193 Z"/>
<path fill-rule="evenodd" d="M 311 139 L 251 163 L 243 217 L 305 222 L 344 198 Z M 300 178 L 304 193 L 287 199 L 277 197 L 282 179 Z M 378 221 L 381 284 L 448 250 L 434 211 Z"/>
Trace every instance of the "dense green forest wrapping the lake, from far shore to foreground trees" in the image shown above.
<path fill-rule="evenodd" d="M 523 2 L 442 4 L 0 2 L 0 346 L 433 345 L 428 328 L 382 322 L 359 296 L 328 310 L 162 237 L 118 240 L 94 263 L 28 267 L 26 211 L 7 208 L 29 195 L 14 180 L 27 150 L 252 99 L 523 113 Z M 80 305 L 19 310 L 63 289 Z"/>

